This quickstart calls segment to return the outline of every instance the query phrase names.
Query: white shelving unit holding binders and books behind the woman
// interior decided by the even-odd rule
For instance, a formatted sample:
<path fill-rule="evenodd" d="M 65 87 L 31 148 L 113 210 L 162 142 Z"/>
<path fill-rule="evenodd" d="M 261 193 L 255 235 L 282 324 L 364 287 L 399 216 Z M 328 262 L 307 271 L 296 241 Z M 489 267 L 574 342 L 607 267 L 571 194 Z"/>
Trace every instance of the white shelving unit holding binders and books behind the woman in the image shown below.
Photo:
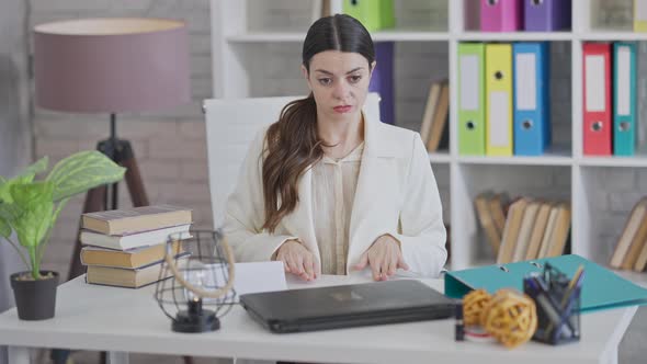
<path fill-rule="evenodd" d="M 333 1 L 333 9 L 341 9 L 340 1 Z M 215 96 L 305 93 L 305 82 L 299 80 L 298 65 L 302 42 L 313 20 L 309 7 L 314 2 L 316 1 L 212 0 Z M 647 194 L 647 174 L 644 172 L 647 171 L 647 156 L 591 158 L 582 155 L 581 47 L 583 42 L 589 41 L 647 41 L 647 33 L 633 33 L 631 24 L 601 26 L 594 21 L 600 18 L 595 18 L 597 14 L 604 10 L 600 0 L 572 1 L 572 30 L 552 33 L 480 33 L 473 21 L 478 19 L 478 0 L 429 0 L 427 3 L 396 0 L 395 3 L 398 23 L 396 30 L 375 32 L 373 38 L 374 42 L 396 42 L 396 47 L 401 47 L 402 52 L 396 56 L 396 62 L 411 61 L 419 65 L 424 64 L 424 57 L 428 57 L 430 64 L 441 65 L 429 67 L 430 71 L 445 67 L 444 76 L 449 76 L 451 84 L 457 84 L 455 65 L 459 42 L 549 41 L 560 44 L 558 48 L 561 49 L 561 55 L 557 56 L 561 58 L 555 64 L 561 67 L 563 88 L 570 89 L 552 90 L 555 91 L 552 92 L 555 109 L 570 107 L 570 112 L 563 111 L 561 116 L 553 124 L 554 143 L 564 137 L 561 145 L 556 144 L 555 150 L 543 157 L 492 158 L 458 155 L 455 107 L 457 91 L 452 88 L 450 150 L 430 153 L 433 168 L 449 173 L 447 178 L 438 175 L 436 172 L 436 179 L 450 181 L 446 186 L 449 198 L 443 204 L 449 204 L 451 212 L 445 216 L 452 227 L 451 268 L 464 269 L 493 262 L 477 225 L 473 205 L 474 197 L 488 189 L 506 191 L 510 195 L 569 200 L 572 207 L 571 252 L 606 264 L 624 228 L 628 211 L 637 201 L 631 201 L 627 194 Z M 427 8 L 419 10 L 416 7 Z M 436 13 L 432 14 L 434 11 Z M 423 26 L 420 19 L 427 15 L 433 23 L 421 30 Z M 411 24 L 407 22 L 411 19 L 416 24 L 408 26 Z M 405 23 L 404 26 L 401 23 Z M 425 54 L 427 48 L 432 50 Z M 281 69 L 281 61 L 271 60 L 272 57 L 282 55 L 292 57 L 286 58 L 291 65 L 284 69 Z M 398 70 L 396 77 L 397 75 Z M 259 77 L 260 80 L 257 79 Z M 411 80 L 413 81 L 410 82 Z M 402 83 L 419 87 L 407 89 L 398 86 L 396 90 L 402 94 L 396 95 L 396 109 L 405 110 L 416 105 L 413 109 L 420 111 L 421 117 L 429 81 L 422 79 L 416 83 L 412 78 Z M 398 82 L 399 79 L 396 79 L 396 84 Z M 638 84 L 640 87 L 639 82 Z M 647 88 L 647 82 L 645 86 Z M 557 91 L 564 94 L 558 98 Z M 646 96 L 640 92 L 639 95 Z M 643 109 L 647 111 L 647 107 Z M 647 117 L 643 117 L 643 124 L 645 121 Z M 415 124 L 401 126 L 416 129 Z M 633 184 L 627 182 L 632 178 L 623 174 L 633 175 Z M 616 187 L 617 175 L 623 177 L 621 187 Z M 623 198 L 627 198 L 624 204 Z M 643 284 L 647 282 L 645 273 L 632 273 L 627 276 Z"/>

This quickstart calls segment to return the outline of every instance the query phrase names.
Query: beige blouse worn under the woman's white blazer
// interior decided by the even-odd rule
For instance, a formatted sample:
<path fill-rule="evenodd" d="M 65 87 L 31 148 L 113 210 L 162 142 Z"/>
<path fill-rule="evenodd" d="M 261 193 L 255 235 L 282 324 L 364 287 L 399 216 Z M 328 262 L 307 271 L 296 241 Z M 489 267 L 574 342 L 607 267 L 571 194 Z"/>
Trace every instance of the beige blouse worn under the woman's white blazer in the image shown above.
<path fill-rule="evenodd" d="M 348 156 L 313 166 L 313 218 L 322 274 L 347 274 L 349 230 L 364 143 Z"/>

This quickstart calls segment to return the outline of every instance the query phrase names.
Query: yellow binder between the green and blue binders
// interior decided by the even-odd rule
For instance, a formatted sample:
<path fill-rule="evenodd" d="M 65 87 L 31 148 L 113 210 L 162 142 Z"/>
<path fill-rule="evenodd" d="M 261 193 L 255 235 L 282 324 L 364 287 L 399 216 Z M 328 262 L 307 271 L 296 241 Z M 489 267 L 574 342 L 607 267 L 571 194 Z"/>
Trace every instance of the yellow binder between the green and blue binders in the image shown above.
<path fill-rule="evenodd" d="M 486 45 L 486 155 L 512 156 L 512 45 Z"/>

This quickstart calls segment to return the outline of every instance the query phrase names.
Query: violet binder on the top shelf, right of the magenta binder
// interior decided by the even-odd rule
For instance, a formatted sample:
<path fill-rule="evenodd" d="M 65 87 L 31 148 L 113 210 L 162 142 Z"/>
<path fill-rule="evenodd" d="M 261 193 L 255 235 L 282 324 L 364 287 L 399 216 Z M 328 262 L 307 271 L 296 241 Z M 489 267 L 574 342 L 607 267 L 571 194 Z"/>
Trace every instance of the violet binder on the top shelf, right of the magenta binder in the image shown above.
<path fill-rule="evenodd" d="M 571 0 L 524 0 L 525 31 L 570 30 Z"/>

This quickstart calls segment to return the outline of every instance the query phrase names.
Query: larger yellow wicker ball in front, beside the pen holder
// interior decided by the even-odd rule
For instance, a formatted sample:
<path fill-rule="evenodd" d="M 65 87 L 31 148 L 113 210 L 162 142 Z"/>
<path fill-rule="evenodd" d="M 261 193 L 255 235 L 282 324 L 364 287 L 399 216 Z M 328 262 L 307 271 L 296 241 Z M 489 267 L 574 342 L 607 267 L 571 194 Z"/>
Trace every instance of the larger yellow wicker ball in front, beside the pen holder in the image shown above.
<path fill-rule="evenodd" d="M 537 328 L 535 303 L 513 289 L 499 289 L 480 315 L 483 328 L 509 349 L 529 341 Z"/>

